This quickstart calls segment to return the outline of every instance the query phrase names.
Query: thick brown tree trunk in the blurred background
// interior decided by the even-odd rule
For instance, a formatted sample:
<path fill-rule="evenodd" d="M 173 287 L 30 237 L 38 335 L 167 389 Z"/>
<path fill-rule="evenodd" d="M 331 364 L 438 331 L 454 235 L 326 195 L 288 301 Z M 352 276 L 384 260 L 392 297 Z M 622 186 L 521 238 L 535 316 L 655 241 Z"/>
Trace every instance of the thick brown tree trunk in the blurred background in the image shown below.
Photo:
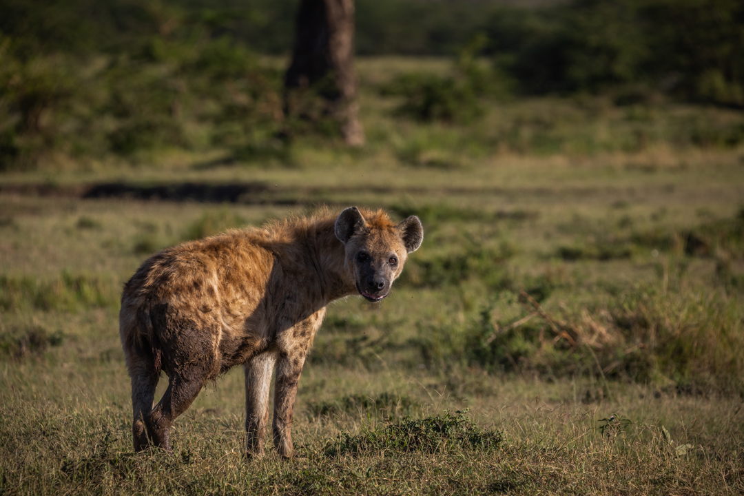
<path fill-rule="evenodd" d="M 284 112 L 291 112 L 293 90 L 319 83 L 327 113 L 341 126 L 344 141 L 359 146 L 365 133 L 356 103 L 353 39 L 354 0 L 301 0 L 292 64 L 284 78 Z"/>

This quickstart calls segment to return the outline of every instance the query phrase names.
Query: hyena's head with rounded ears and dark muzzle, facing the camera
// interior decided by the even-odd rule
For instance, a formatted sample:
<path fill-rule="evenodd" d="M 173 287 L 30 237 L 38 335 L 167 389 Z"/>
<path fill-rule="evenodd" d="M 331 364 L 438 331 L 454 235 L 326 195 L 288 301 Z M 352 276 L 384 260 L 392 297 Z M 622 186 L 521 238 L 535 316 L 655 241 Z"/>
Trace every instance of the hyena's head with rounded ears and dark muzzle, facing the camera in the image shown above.
<path fill-rule="evenodd" d="M 382 211 L 365 215 L 356 207 L 341 212 L 336 237 L 344 243 L 356 290 L 368 301 L 379 301 L 388 296 L 408 254 L 421 245 L 423 227 L 417 216 L 395 224 Z"/>

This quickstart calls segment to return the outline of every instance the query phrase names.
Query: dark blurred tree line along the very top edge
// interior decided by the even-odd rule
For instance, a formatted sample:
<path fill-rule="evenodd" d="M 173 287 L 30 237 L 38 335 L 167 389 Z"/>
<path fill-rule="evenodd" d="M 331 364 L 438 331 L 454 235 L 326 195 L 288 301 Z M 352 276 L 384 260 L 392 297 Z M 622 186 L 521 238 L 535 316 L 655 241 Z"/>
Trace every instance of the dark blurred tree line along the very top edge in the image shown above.
<path fill-rule="evenodd" d="M 346 13 L 347 19 L 356 17 L 347 31 L 356 27 L 350 46 L 357 54 L 455 55 L 484 33 L 488 43 L 482 54 L 518 83 L 517 91 L 602 91 L 647 83 L 687 99 L 744 103 L 741 0 L 572 0 L 544 1 L 542 7 L 496 0 L 353 3 L 0 0 L 0 33 L 27 54 L 130 51 L 167 27 L 170 37 L 188 41 L 208 32 L 258 53 L 287 54 L 294 43 L 296 55 L 302 40 L 315 35 L 321 40 L 324 31 L 330 35 L 328 19 Z M 310 22 L 298 23 L 299 18 Z M 169 19 L 176 22 L 167 25 Z M 299 81 L 294 74 L 305 71 L 313 57 L 298 58 L 288 83 Z M 321 64 L 312 65 L 308 74 Z M 337 73 L 347 80 L 344 71 Z M 315 82 L 312 74 L 309 80 Z"/>

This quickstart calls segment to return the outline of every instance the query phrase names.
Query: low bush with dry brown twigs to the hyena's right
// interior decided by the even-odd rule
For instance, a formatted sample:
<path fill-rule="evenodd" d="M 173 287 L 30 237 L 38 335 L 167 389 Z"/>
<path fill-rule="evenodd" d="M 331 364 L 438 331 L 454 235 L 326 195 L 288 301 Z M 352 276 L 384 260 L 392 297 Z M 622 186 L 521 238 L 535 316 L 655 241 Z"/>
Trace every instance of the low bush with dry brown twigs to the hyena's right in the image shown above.
<path fill-rule="evenodd" d="M 510 321 L 499 321 L 494 305 L 464 328 L 422 329 L 424 361 L 543 378 L 676 384 L 708 393 L 743 387 L 744 359 L 735 351 L 744 346 L 743 321 L 733 297 L 708 300 L 641 286 L 612 303 L 563 306 L 556 314 L 527 297 L 520 300 L 522 315 Z"/>

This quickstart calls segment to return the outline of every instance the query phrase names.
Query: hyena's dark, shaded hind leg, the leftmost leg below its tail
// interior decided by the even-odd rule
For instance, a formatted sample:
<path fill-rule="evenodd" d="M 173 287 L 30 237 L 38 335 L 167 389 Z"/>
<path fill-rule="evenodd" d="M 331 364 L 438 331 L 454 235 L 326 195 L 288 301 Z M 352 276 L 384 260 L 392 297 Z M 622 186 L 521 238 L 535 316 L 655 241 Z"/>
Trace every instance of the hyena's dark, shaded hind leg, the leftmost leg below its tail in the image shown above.
<path fill-rule="evenodd" d="M 132 380 L 132 437 L 135 451 L 142 451 L 150 446 L 147 438 L 147 421 L 153 410 L 155 387 L 160 373 L 150 354 L 134 355 L 127 353 L 127 368 Z"/>

